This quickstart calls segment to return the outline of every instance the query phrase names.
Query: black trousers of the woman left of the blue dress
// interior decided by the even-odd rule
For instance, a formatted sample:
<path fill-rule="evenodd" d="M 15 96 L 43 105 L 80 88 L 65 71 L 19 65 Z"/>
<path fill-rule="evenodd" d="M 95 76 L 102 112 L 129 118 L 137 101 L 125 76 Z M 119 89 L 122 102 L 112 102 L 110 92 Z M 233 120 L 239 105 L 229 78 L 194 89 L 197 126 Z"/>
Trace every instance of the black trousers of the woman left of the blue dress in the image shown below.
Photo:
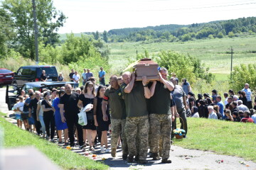
<path fill-rule="evenodd" d="M 46 125 L 46 135 L 52 140 L 55 134 L 55 120 L 53 113 L 43 113 L 43 122 Z"/>

